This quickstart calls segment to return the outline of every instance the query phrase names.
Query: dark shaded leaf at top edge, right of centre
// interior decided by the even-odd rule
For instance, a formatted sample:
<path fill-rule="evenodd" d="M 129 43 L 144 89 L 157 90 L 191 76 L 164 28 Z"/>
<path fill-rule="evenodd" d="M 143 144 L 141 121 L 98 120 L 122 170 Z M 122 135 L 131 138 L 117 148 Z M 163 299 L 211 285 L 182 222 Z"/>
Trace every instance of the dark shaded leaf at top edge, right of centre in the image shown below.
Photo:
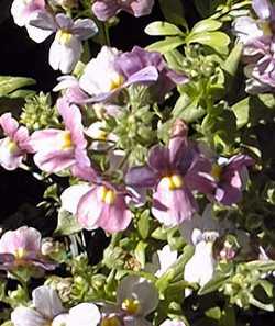
<path fill-rule="evenodd" d="M 164 18 L 174 24 L 187 27 L 180 0 L 158 0 Z"/>

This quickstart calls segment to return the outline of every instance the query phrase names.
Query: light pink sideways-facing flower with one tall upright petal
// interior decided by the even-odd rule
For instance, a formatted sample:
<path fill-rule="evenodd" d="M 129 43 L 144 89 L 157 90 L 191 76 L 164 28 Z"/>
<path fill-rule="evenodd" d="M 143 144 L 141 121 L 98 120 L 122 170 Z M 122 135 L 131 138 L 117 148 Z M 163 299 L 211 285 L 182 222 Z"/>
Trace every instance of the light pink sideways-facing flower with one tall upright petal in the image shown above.
<path fill-rule="evenodd" d="M 66 99 L 57 100 L 57 109 L 63 117 L 65 130 L 48 128 L 34 132 L 31 144 L 36 153 L 34 161 L 41 170 L 59 172 L 78 166 L 90 166 L 86 153 L 80 110 Z"/>

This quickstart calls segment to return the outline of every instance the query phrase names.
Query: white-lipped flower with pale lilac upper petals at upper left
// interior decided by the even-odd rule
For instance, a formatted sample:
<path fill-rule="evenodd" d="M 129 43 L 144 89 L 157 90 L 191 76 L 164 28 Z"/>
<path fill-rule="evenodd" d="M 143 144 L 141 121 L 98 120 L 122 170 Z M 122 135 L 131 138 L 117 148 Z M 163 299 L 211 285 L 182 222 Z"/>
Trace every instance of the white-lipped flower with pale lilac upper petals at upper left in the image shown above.
<path fill-rule="evenodd" d="M 90 19 L 78 19 L 75 22 L 63 13 L 55 18 L 47 12 L 37 11 L 32 15 L 30 25 L 50 31 L 55 40 L 50 48 L 50 65 L 63 74 L 70 72 L 82 53 L 81 41 L 94 36 L 98 27 Z"/>

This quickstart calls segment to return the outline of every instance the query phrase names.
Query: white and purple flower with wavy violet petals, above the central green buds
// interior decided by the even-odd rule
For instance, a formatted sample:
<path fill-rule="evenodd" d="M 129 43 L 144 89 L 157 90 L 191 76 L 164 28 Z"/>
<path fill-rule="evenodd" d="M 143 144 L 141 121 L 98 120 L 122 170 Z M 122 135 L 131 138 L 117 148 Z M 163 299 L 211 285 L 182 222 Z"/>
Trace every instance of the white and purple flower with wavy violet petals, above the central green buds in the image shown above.
<path fill-rule="evenodd" d="M 79 85 L 92 97 L 90 102 L 100 102 L 134 83 L 153 85 L 154 92 L 162 100 L 177 83 L 187 81 L 185 75 L 169 69 L 157 52 L 135 46 L 132 52 L 123 54 L 103 46 L 97 58 L 86 66 Z"/>

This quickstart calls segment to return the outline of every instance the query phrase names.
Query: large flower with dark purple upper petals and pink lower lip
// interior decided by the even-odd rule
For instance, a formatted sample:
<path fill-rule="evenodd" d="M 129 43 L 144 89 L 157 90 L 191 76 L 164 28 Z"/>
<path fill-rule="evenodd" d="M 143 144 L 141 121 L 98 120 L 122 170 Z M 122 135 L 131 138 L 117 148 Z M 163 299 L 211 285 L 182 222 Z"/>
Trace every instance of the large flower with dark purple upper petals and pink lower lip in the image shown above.
<path fill-rule="evenodd" d="M 153 215 L 168 226 L 191 218 L 197 210 L 193 190 L 211 193 L 211 165 L 186 137 L 175 136 L 168 147 L 155 146 L 148 162 L 130 169 L 127 183 L 153 189 Z"/>

